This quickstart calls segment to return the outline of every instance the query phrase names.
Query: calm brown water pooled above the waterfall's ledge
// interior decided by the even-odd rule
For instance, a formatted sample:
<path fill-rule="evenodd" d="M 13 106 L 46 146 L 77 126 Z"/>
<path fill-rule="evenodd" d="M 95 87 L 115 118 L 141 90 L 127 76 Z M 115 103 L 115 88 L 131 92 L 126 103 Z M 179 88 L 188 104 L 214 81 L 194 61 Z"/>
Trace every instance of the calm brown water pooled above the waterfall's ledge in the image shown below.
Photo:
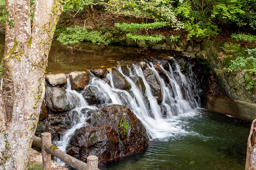
<path fill-rule="evenodd" d="M 47 73 L 81 71 L 112 67 L 120 63 L 129 64 L 141 57 L 133 55 L 138 48 L 130 46 L 98 46 L 82 43 L 76 49 L 65 48 L 57 41 L 53 42 L 49 52 Z"/>

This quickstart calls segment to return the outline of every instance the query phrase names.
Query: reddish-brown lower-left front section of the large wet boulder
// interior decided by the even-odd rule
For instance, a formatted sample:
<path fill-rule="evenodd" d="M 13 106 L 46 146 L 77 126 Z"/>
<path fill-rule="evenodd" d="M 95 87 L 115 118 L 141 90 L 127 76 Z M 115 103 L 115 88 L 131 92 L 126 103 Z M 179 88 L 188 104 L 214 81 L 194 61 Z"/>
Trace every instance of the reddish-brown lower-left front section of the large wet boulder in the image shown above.
<path fill-rule="evenodd" d="M 99 163 L 108 163 L 119 159 L 118 133 L 110 125 L 101 127 L 86 126 L 73 135 L 67 154 L 86 162 L 89 155 L 98 156 Z"/>

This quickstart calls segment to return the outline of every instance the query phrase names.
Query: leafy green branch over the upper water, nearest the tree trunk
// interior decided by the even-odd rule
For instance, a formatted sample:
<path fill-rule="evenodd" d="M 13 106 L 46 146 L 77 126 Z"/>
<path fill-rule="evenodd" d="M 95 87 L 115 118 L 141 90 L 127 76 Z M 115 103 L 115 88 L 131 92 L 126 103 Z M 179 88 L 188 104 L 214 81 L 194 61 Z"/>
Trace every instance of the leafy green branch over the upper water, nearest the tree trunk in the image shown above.
<path fill-rule="evenodd" d="M 88 32 L 86 29 L 75 26 L 74 28 L 67 28 L 67 31 L 60 33 L 57 38 L 63 45 L 79 44 L 81 41 L 91 41 L 93 44 L 109 44 L 106 40 L 107 35 L 102 35 L 100 31 Z"/>

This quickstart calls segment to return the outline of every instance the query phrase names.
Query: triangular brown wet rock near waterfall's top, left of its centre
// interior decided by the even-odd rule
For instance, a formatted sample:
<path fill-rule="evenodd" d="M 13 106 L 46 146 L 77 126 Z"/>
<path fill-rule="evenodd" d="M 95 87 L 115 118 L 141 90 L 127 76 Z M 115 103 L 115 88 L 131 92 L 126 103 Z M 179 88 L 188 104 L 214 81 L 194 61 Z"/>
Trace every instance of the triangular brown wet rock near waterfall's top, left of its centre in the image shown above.
<path fill-rule="evenodd" d="M 127 82 L 127 80 L 122 76 L 117 69 L 112 68 L 113 75 L 113 83 L 115 88 L 119 88 L 121 90 L 129 90 L 131 88 L 131 84 Z"/>

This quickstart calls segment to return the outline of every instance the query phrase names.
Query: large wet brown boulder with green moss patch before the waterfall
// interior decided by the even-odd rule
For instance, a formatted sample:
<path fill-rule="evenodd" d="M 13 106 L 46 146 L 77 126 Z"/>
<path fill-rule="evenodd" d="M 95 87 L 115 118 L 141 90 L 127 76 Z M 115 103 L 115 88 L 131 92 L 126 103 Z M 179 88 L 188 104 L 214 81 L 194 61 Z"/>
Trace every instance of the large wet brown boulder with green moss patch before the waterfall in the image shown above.
<path fill-rule="evenodd" d="M 89 125 L 76 130 L 69 142 L 69 155 L 84 162 L 87 156 L 96 155 L 99 163 L 109 163 L 147 149 L 146 130 L 129 108 L 109 105 L 89 111 L 88 116 Z"/>

